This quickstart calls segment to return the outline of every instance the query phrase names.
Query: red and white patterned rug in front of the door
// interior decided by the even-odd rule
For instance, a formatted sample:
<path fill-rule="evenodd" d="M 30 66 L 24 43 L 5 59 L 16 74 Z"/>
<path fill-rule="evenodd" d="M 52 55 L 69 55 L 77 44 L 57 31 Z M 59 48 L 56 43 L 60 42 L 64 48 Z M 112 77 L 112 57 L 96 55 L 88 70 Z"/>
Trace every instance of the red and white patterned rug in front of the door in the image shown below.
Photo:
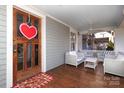
<path fill-rule="evenodd" d="M 44 88 L 51 80 L 53 80 L 52 76 L 46 73 L 39 73 L 31 78 L 17 83 L 13 86 L 13 88 Z"/>

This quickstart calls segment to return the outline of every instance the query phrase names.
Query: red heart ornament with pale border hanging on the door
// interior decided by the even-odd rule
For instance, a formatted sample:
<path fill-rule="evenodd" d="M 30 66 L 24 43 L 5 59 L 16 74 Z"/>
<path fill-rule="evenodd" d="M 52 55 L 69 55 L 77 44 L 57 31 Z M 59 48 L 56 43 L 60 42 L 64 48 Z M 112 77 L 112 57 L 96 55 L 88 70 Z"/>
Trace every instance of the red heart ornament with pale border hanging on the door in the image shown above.
<path fill-rule="evenodd" d="M 37 35 L 37 29 L 35 26 L 29 26 L 26 23 L 22 23 L 19 26 L 19 30 L 22 33 L 23 36 L 25 36 L 27 39 L 32 39 Z"/>

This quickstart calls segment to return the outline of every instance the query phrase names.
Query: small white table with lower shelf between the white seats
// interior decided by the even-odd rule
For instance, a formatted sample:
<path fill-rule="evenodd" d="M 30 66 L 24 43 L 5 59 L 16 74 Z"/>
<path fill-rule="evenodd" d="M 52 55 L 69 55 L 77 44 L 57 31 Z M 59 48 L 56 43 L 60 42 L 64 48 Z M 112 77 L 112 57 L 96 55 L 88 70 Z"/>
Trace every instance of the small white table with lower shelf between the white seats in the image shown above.
<path fill-rule="evenodd" d="M 86 58 L 84 60 L 84 67 L 93 68 L 95 70 L 97 66 L 97 58 Z"/>

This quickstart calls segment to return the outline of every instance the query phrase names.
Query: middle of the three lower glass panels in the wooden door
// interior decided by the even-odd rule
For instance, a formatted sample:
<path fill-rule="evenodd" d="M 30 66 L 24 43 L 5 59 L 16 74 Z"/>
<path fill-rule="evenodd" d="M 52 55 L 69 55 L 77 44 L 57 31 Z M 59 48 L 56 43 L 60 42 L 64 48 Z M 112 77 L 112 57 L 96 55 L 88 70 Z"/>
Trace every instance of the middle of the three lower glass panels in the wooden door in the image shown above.
<path fill-rule="evenodd" d="M 27 67 L 31 67 L 31 58 L 32 58 L 32 45 L 31 44 L 28 44 L 28 47 L 27 47 Z"/>

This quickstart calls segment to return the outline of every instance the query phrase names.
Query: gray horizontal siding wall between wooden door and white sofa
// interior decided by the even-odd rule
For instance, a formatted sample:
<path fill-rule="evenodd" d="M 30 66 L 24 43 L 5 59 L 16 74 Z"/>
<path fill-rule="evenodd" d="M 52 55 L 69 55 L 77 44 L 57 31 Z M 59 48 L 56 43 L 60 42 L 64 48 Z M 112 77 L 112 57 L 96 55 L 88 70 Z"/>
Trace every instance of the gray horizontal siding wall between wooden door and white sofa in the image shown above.
<path fill-rule="evenodd" d="M 64 64 L 64 54 L 69 50 L 69 27 L 46 17 L 46 69 Z"/>

